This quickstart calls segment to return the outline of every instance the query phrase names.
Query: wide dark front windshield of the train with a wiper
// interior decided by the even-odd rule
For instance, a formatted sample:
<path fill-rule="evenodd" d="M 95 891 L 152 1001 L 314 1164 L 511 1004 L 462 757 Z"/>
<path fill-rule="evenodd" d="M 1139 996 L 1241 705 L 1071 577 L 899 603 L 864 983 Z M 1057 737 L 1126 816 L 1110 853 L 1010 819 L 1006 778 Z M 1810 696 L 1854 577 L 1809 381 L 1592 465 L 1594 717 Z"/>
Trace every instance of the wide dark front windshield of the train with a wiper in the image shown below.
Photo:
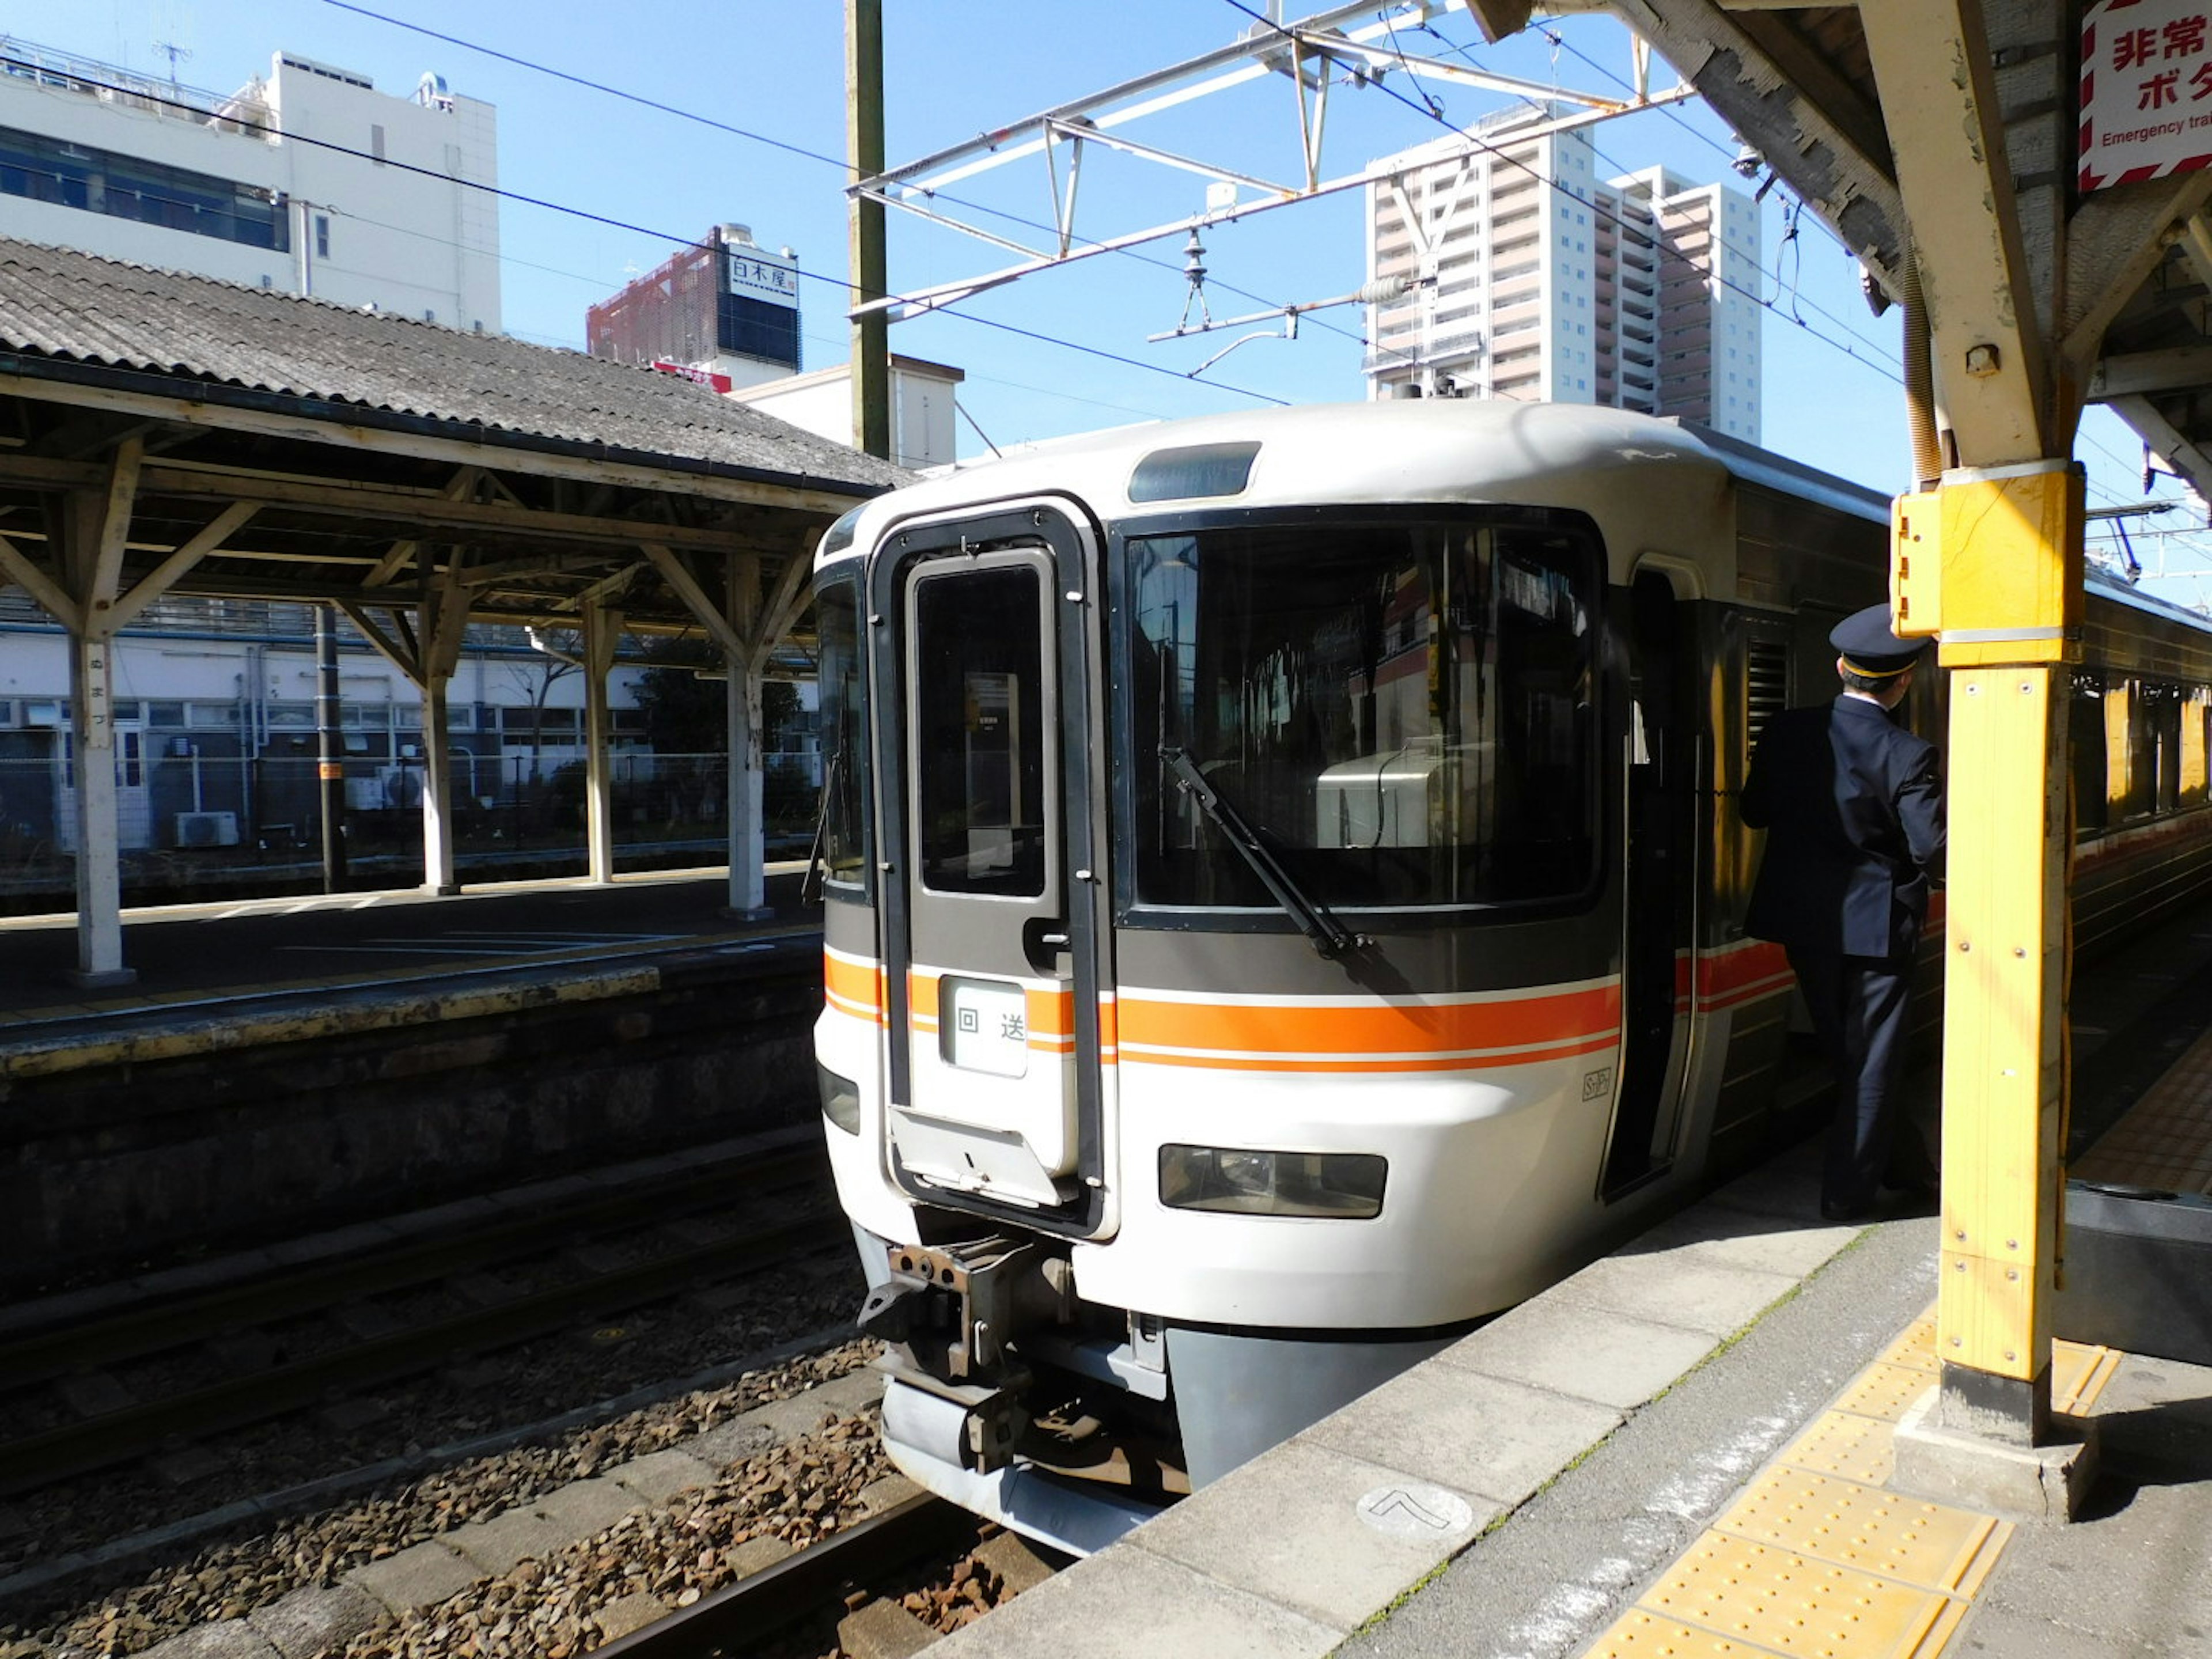
<path fill-rule="evenodd" d="M 1590 889 L 1604 566 L 1568 513 L 1303 522 L 1124 544 L 1139 905 L 1274 907 L 1181 750 L 1323 905 Z"/>

